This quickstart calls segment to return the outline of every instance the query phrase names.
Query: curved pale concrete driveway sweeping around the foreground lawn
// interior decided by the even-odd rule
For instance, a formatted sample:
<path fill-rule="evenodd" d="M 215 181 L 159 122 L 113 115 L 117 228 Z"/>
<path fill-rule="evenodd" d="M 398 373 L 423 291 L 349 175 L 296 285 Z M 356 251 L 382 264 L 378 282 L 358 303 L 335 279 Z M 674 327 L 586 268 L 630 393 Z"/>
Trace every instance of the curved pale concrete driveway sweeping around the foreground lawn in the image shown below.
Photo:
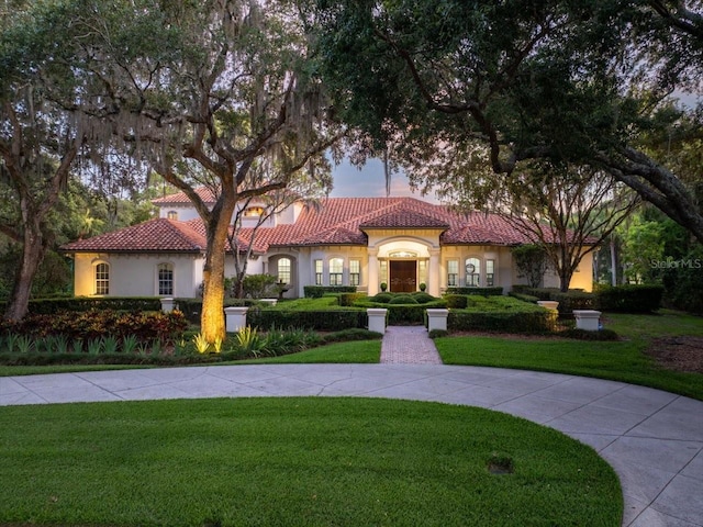
<path fill-rule="evenodd" d="M 437 365 L 215 366 L 0 378 L 0 405 L 368 396 L 482 406 L 585 442 L 620 475 L 623 525 L 703 526 L 703 402 L 622 382 Z"/>

